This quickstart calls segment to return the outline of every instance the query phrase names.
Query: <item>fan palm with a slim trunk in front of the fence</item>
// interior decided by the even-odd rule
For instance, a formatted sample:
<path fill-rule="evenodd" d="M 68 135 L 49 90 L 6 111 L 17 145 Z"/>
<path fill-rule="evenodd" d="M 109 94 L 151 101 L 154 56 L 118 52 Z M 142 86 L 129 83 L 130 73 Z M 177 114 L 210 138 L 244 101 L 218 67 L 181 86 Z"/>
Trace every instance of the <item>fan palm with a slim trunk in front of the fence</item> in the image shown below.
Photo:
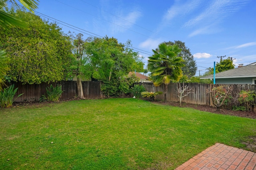
<path fill-rule="evenodd" d="M 181 52 L 178 45 L 166 45 L 161 43 L 158 45 L 159 51 L 152 50 L 154 55 L 148 57 L 148 70 L 151 72 L 150 80 L 154 86 L 164 84 L 164 102 L 166 102 L 166 93 L 168 84 L 172 81 L 178 81 L 182 76 L 181 67 L 182 57 L 177 57 Z"/>

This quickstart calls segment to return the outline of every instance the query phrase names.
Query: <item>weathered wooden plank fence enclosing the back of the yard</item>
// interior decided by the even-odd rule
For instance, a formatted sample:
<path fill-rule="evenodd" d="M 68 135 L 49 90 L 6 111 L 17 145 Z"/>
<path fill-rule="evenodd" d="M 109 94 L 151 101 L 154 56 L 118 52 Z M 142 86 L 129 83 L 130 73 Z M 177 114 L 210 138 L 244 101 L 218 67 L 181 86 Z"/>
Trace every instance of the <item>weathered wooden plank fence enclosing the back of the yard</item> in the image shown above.
<path fill-rule="evenodd" d="M 65 81 L 65 82 L 57 82 L 51 83 L 53 86 L 62 85 L 62 93 L 61 99 L 68 100 L 72 99 L 77 96 L 77 86 L 76 81 Z M 18 87 L 17 94 L 24 93 L 20 96 L 16 102 L 32 102 L 38 101 L 42 94 L 45 94 L 46 87 L 50 86 L 50 84 L 42 83 L 42 84 L 21 84 L 18 82 L 14 83 L 15 88 Z M 84 90 L 84 97 L 85 98 L 105 98 L 103 92 L 100 90 L 101 82 L 82 82 L 83 90 Z M 142 83 L 142 85 L 146 88 L 149 92 L 157 92 L 157 91 L 164 91 L 164 86 L 161 85 L 159 87 L 155 87 L 153 83 Z M 167 101 L 178 102 L 178 94 L 177 88 L 180 87 L 179 83 L 170 83 L 168 85 L 168 93 L 167 93 Z M 190 104 L 199 104 L 199 105 L 208 105 L 214 106 L 212 104 L 212 99 L 210 94 L 207 92 L 212 90 L 214 87 L 218 86 L 232 86 L 232 93 L 231 96 L 233 98 L 237 97 L 237 94 L 241 90 L 254 90 L 254 84 L 198 84 L 198 83 L 185 83 L 184 85 L 189 86 L 193 93 L 188 94 L 188 96 L 182 98 L 182 102 L 190 103 Z M 164 100 L 164 94 L 156 96 L 156 99 Z M 232 104 L 225 106 L 227 109 L 232 109 Z M 254 110 L 256 110 L 254 108 Z"/>

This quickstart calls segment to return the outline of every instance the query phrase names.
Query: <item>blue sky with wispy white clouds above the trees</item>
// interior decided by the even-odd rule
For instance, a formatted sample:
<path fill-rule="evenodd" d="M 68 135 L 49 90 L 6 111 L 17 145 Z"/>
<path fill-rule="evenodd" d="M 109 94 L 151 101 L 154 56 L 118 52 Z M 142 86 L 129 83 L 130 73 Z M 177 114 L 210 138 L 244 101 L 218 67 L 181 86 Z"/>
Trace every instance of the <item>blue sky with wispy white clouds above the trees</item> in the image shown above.
<path fill-rule="evenodd" d="M 83 29 L 85 39 L 129 39 L 145 64 L 159 43 L 183 41 L 196 60 L 196 76 L 224 55 L 236 67 L 256 62 L 255 0 L 41 0 L 36 12 L 70 24 L 58 24 L 64 33 Z"/>

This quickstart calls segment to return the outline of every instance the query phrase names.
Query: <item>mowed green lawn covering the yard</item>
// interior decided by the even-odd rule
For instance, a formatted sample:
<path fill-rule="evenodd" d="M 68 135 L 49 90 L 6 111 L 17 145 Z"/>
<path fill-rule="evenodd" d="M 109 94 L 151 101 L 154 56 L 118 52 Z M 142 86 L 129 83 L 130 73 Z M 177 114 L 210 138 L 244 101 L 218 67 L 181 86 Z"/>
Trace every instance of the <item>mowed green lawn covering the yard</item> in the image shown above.
<path fill-rule="evenodd" d="M 0 109 L 0 169 L 174 169 L 215 143 L 244 147 L 256 120 L 133 98 Z"/>

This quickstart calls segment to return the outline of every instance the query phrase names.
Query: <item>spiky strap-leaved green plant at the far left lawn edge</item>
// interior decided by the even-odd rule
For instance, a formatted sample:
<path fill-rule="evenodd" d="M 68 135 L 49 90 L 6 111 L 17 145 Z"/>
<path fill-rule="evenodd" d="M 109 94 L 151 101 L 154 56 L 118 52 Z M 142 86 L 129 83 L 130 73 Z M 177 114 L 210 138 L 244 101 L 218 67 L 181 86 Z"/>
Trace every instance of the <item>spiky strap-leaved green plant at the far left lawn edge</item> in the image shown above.
<path fill-rule="evenodd" d="M 19 94 L 17 98 L 13 99 L 15 94 L 17 93 L 18 88 L 14 89 L 14 84 L 11 86 L 4 88 L 4 90 L 0 91 L 0 106 L 1 107 L 10 107 L 13 102 L 20 97 L 22 94 Z"/>

